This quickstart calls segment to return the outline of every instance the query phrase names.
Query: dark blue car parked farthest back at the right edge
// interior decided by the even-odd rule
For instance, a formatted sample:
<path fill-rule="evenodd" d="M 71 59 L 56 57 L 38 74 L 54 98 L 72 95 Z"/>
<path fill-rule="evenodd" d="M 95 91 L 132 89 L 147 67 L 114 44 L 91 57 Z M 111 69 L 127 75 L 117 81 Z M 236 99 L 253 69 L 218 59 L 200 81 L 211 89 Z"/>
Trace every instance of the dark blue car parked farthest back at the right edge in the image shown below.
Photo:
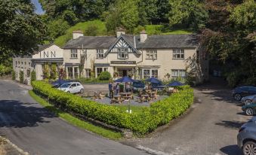
<path fill-rule="evenodd" d="M 251 87 L 251 86 L 236 87 L 232 91 L 233 98 L 238 101 L 240 101 L 242 97 L 252 96 L 254 94 L 256 94 L 256 87 Z"/>

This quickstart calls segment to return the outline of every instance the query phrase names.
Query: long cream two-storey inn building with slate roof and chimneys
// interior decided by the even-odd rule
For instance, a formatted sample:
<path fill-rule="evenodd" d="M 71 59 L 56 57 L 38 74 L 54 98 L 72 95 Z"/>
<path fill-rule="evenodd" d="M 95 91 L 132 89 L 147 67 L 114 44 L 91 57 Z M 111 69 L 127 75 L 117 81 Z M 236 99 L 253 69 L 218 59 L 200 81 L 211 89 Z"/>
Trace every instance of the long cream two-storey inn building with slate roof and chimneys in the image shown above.
<path fill-rule="evenodd" d="M 109 71 L 114 78 L 140 80 L 186 78 L 193 72 L 197 83 L 208 80 L 208 59 L 196 34 L 147 35 L 142 31 L 140 35 L 126 35 L 118 29 L 116 36 L 84 36 L 82 31 L 74 31 L 62 48 L 44 45 L 31 57 L 13 61 L 17 72 L 20 67 L 15 64 L 26 62 L 26 68 L 35 70 L 38 80 L 44 78 L 46 63 L 57 64 L 58 70 L 64 68 L 69 79 L 79 75 L 97 78 L 102 71 Z"/>

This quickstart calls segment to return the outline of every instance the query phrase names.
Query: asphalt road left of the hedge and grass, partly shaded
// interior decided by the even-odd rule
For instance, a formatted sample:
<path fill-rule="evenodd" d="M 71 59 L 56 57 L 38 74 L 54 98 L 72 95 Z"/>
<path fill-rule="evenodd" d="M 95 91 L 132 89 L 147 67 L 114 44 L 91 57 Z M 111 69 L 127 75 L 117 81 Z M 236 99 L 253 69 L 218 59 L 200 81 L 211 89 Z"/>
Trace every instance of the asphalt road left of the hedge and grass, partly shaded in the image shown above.
<path fill-rule="evenodd" d="M 27 90 L 0 80 L 0 135 L 30 154 L 147 154 L 79 129 L 37 104 Z"/>

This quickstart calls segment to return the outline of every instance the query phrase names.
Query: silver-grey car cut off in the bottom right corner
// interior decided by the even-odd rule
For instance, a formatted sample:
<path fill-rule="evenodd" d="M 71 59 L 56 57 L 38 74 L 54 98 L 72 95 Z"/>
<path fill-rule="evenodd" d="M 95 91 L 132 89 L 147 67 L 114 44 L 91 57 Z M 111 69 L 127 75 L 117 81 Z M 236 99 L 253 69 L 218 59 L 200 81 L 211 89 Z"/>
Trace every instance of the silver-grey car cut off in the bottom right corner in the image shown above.
<path fill-rule="evenodd" d="M 256 117 L 239 128 L 237 145 L 245 155 L 256 154 Z"/>

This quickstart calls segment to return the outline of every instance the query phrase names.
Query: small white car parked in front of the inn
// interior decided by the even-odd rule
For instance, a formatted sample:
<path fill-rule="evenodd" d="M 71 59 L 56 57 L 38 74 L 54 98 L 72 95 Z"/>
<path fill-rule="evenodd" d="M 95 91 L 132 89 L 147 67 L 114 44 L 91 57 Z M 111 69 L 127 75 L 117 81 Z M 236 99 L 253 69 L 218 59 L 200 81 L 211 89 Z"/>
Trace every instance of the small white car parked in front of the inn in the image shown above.
<path fill-rule="evenodd" d="M 84 93 L 84 87 L 79 82 L 69 82 L 57 88 L 67 93 Z"/>

